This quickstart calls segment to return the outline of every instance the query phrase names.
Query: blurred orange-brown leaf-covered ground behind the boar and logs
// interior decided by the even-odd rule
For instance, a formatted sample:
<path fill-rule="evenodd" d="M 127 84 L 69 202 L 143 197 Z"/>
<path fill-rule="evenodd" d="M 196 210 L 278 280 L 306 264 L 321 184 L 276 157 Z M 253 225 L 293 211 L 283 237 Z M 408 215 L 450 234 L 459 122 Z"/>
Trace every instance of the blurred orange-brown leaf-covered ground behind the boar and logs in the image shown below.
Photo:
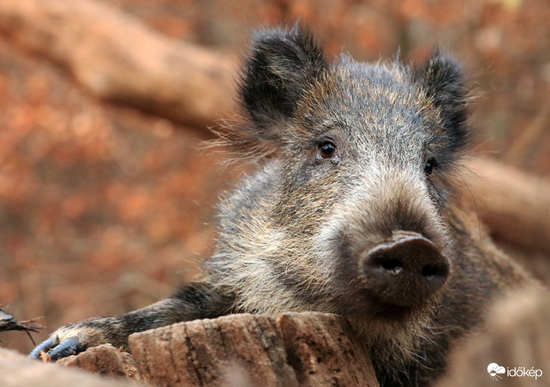
<path fill-rule="evenodd" d="M 420 62 L 440 45 L 464 63 L 478 91 L 473 152 L 550 178 L 547 0 L 89 2 L 228 58 L 243 58 L 255 27 L 297 19 L 329 58 L 343 50 L 371 61 L 400 50 L 402 60 Z M 104 102 L 66 66 L 3 30 L 2 307 L 19 320 L 43 316 L 44 332 L 33 335 L 39 342 L 68 322 L 144 307 L 197 278 L 212 249 L 217 197 L 247 168 L 225 166 L 225 150 L 203 150 L 211 138 L 206 126 Z M 21 332 L 0 340 L 33 347 Z"/>

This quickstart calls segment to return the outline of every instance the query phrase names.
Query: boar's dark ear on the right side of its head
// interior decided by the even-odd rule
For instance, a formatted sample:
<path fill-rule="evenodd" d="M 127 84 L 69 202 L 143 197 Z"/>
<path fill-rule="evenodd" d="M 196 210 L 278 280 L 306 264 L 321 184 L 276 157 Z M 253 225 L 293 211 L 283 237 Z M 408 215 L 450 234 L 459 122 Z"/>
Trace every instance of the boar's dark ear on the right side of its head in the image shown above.
<path fill-rule="evenodd" d="M 412 79 L 426 92 L 439 109 L 441 121 L 456 148 L 467 141 L 467 118 L 470 92 L 461 65 L 434 49 L 432 56 L 412 71 Z"/>

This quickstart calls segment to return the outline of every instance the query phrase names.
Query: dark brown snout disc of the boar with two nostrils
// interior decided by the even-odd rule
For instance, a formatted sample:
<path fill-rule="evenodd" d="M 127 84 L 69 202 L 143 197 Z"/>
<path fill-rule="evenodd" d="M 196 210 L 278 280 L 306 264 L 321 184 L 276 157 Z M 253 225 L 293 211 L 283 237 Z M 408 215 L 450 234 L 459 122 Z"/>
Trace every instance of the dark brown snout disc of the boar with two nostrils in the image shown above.
<path fill-rule="evenodd" d="M 449 275 L 449 261 L 429 239 L 411 232 L 366 250 L 360 259 L 362 282 L 375 301 L 413 307 L 439 290 Z"/>

